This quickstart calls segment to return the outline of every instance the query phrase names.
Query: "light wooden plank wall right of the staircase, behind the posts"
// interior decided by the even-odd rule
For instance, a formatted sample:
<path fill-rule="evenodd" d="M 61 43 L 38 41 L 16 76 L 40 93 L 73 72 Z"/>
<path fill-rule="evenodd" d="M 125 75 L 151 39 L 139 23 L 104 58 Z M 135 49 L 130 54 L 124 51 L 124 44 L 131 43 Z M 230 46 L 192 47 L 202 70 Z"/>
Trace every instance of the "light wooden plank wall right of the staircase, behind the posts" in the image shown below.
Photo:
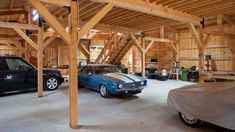
<path fill-rule="evenodd" d="M 228 32 L 231 26 L 225 25 L 224 32 Z M 216 26 L 206 27 L 206 32 L 212 33 Z M 159 37 L 159 34 L 148 34 L 151 37 Z M 175 36 L 175 35 L 174 35 Z M 175 40 L 172 34 L 167 34 L 168 39 Z M 197 45 L 189 30 L 179 31 L 179 61 L 180 67 L 190 68 L 192 66 L 199 66 L 199 55 Z M 129 67 L 131 72 L 139 72 L 140 69 L 134 68 L 134 65 L 140 65 L 140 54 L 135 54 L 133 48 L 123 58 L 122 64 Z M 226 33 L 213 33 L 211 39 L 208 41 L 208 47 L 205 50 L 205 55 L 212 55 L 212 68 L 216 71 L 235 71 L 235 35 L 228 35 Z M 129 58 L 128 58 L 129 56 Z M 130 63 L 130 56 L 138 58 L 139 61 L 132 61 Z M 158 59 L 158 63 L 151 63 L 150 59 Z M 159 70 L 170 70 L 172 61 L 175 60 L 172 48 L 169 43 L 154 43 L 153 46 L 146 53 L 146 68 L 156 67 Z M 206 61 L 205 61 L 206 64 Z M 132 66 L 132 67 L 131 67 Z M 205 67 L 206 69 L 206 67 Z"/>

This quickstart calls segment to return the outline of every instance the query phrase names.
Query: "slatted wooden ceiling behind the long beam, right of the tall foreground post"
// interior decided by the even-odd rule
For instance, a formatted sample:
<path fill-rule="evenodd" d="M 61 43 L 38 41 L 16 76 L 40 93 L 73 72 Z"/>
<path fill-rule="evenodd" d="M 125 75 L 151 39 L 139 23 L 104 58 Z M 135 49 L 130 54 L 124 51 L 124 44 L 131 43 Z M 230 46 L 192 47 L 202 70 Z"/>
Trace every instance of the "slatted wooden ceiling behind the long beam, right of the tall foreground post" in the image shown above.
<path fill-rule="evenodd" d="M 83 0 L 80 3 L 80 18 L 86 22 L 92 18 L 105 4 Z M 114 7 L 99 23 L 117 25 L 133 29 L 146 30 L 160 25 L 180 23 L 177 21 L 156 17 L 146 13 Z"/>

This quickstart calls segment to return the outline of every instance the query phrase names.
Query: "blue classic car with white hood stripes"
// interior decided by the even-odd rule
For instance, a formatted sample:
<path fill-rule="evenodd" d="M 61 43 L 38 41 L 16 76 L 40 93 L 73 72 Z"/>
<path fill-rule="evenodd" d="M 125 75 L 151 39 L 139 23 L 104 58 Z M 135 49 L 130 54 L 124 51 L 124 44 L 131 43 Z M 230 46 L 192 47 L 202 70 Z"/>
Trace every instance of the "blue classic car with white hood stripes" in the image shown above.
<path fill-rule="evenodd" d="M 104 98 L 119 94 L 137 94 L 147 86 L 147 79 L 121 73 L 109 64 L 89 64 L 78 73 L 78 86 L 99 91 Z"/>

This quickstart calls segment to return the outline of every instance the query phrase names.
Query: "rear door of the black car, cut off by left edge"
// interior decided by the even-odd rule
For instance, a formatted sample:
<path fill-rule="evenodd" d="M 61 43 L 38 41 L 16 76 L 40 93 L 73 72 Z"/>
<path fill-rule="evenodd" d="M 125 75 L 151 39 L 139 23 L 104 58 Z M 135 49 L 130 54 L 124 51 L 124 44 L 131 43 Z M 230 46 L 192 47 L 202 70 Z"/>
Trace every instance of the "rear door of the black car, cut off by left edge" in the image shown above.
<path fill-rule="evenodd" d="M 8 83 L 6 81 L 8 71 L 7 65 L 5 63 L 5 59 L 0 58 L 0 93 L 9 91 Z"/>

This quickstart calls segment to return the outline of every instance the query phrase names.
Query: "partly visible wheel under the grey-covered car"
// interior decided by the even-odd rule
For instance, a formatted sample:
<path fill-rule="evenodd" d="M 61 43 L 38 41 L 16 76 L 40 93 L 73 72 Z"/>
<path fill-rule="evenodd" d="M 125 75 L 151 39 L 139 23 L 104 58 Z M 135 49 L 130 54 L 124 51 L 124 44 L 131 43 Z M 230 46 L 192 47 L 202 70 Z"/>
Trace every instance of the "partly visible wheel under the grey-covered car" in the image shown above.
<path fill-rule="evenodd" d="M 180 119 L 183 121 L 183 123 L 190 127 L 198 127 L 203 123 L 203 121 L 195 117 L 192 117 L 189 114 L 179 112 L 179 116 L 180 116 Z"/>

